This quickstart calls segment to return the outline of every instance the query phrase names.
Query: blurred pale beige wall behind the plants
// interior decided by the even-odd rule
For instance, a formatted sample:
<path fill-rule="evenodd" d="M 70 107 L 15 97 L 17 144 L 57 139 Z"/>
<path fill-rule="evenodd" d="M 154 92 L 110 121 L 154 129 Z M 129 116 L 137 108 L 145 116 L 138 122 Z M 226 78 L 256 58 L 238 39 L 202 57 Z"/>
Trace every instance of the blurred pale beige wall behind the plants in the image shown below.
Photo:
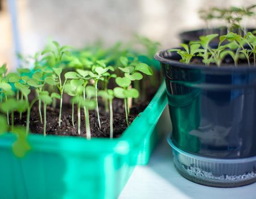
<path fill-rule="evenodd" d="M 15 68 L 15 47 L 24 55 L 34 55 L 50 40 L 77 48 L 102 40 L 108 46 L 128 42 L 137 33 L 160 42 L 161 48 L 175 47 L 179 32 L 205 26 L 199 9 L 253 3 L 255 0 L 0 0 L 0 65 Z M 246 23 L 256 27 L 255 20 Z"/>

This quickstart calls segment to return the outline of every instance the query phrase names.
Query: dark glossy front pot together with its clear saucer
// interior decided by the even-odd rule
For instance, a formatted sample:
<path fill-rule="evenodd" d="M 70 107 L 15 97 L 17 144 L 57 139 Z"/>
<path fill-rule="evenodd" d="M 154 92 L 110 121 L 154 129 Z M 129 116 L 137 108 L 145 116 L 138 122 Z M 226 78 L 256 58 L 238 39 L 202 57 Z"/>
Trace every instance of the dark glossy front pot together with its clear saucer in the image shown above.
<path fill-rule="evenodd" d="M 174 164 L 199 184 L 233 187 L 256 181 L 256 67 L 183 64 L 161 51 L 173 126 Z"/>

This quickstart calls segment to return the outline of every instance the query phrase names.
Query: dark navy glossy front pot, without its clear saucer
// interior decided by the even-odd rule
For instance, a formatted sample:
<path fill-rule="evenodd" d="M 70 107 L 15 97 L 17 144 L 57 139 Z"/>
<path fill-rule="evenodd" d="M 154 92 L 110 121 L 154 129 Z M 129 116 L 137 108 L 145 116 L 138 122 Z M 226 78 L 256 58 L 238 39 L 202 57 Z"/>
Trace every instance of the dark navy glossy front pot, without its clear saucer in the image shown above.
<path fill-rule="evenodd" d="M 205 67 L 158 52 L 166 78 L 172 142 L 216 158 L 256 156 L 256 67 Z"/>

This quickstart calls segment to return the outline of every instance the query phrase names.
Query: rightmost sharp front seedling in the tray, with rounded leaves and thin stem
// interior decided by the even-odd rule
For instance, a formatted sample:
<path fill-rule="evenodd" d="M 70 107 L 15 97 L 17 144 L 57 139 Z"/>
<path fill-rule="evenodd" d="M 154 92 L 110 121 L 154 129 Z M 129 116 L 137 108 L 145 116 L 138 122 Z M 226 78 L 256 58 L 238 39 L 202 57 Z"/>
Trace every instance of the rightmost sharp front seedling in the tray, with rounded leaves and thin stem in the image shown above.
<path fill-rule="evenodd" d="M 125 118 L 126 118 L 126 124 L 129 126 L 128 121 L 128 98 L 138 98 L 139 92 L 137 89 L 131 88 L 129 89 L 129 86 L 131 85 L 131 80 L 129 80 L 127 77 L 117 77 L 115 79 L 115 82 L 118 86 L 114 88 L 114 96 L 117 98 L 121 98 L 125 102 Z"/>

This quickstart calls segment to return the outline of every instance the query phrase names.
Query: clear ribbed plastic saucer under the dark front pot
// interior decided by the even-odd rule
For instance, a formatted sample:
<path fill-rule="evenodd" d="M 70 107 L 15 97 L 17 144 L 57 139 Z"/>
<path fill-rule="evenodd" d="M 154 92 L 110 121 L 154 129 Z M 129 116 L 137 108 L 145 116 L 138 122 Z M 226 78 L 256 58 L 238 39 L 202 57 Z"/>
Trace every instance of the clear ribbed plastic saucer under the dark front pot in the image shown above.
<path fill-rule="evenodd" d="M 236 187 L 256 182 L 256 157 L 216 159 L 189 154 L 180 150 L 167 138 L 172 147 L 174 165 L 181 176 L 195 183 Z"/>

